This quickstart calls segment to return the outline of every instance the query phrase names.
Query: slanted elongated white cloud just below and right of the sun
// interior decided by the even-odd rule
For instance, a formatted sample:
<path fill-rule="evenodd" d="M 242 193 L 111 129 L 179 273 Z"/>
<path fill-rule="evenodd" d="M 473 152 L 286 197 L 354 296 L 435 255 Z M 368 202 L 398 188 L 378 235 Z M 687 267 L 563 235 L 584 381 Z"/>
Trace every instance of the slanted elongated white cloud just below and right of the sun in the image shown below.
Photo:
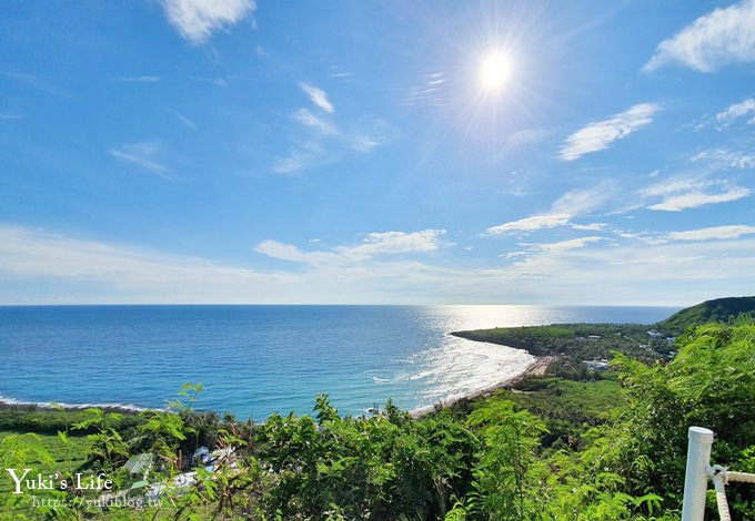
<path fill-rule="evenodd" d="M 614 141 L 651 123 L 658 110 L 661 106 L 655 103 L 640 103 L 607 120 L 590 123 L 566 137 L 558 157 L 561 161 L 574 161 L 591 152 L 607 149 Z"/>

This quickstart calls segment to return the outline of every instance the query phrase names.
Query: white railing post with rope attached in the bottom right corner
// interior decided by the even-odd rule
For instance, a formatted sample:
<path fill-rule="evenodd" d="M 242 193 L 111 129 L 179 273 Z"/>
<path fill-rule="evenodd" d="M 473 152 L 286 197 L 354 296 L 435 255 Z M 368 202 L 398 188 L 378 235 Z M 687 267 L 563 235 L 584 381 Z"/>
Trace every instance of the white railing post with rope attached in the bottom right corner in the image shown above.
<path fill-rule="evenodd" d="M 687 472 L 684 478 L 682 521 L 703 521 L 705 514 L 706 468 L 711 464 L 713 431 L 704 427 L 689 427 Z"/>

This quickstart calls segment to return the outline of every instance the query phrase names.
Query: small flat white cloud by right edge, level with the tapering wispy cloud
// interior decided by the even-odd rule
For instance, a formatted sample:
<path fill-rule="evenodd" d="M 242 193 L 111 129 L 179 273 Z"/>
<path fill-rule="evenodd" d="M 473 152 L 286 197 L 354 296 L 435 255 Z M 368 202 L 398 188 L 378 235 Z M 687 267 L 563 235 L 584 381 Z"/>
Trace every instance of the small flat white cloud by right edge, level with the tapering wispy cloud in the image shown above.
<path fill-rule="evenodd" d="M 737 201 L 749 196 L 752 191 L 721 180 L 681 178 L 651 186 L 640 194 L 645 197 L 663 198 L 660 203 L 647 206 L 647 210 L 681 212 Z"/>

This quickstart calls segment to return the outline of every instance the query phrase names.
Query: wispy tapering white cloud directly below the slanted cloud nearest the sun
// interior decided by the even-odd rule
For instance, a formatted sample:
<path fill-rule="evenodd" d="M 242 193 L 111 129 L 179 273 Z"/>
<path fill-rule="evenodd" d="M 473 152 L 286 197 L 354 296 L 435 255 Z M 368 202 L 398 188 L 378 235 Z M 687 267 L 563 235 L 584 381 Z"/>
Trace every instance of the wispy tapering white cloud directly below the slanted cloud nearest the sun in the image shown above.
<path fill-rule="evenodd" d="M 575 225 L 572 219 L 588 215 L 614 198 L 617 186 L 612 181 L 604 181 L 596 186 L 586 190 L 573 190 L 565 193 L 553 203 L 551 210 L 540 215 L 512 221 L 490 227 L 484 235 L 503 235 L 515 232 L 535 232 L 557 226 L 573 226 L 576 229 L 596 229 L 598 225 Z"/>

